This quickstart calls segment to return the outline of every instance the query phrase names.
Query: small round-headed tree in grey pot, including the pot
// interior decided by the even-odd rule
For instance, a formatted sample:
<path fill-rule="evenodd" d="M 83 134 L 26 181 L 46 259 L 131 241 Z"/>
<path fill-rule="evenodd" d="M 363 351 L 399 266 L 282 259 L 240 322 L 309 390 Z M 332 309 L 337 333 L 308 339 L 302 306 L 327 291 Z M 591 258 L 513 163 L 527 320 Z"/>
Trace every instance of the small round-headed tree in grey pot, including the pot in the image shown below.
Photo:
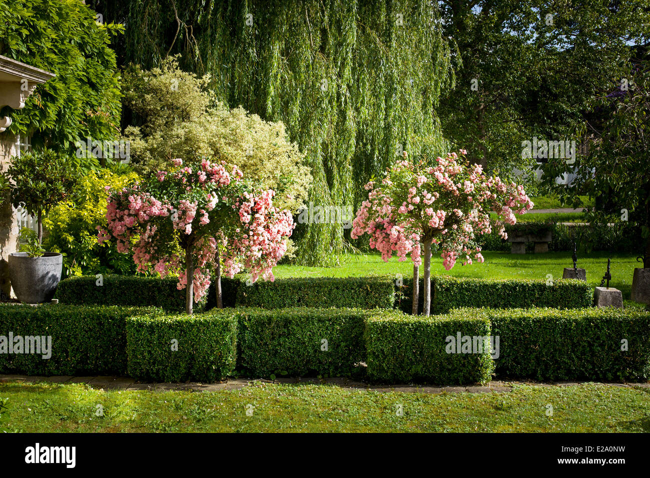
<path fill-rule="evenodd" d="M 5 173 L 10 201 L 36 217 L 38 231 L 23 229 L 20 252 L 9 255 L 9 279 L 18 300 L 28 304 L 49 302 L 61 279 L 63 256 L 45 252 L 43 215 L 64 200 L 75 183 L 73 161 L 44 149 L 12 157 Z"/>

